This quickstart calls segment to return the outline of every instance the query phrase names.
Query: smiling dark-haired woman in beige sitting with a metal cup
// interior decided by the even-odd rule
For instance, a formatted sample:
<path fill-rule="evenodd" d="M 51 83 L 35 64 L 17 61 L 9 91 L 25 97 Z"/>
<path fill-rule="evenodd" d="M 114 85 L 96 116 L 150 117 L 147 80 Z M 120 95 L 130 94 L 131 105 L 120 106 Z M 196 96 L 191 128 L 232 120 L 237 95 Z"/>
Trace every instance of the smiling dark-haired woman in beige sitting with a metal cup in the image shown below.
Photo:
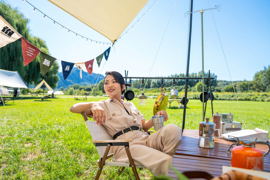
<path fill-rule="evenodd" d="M 70 111 L 73 113 L 85 111 L 97 124 L 103 124 L 116 140 L 132 139 L 129 149 L 135 165 L 144 165 L 155 176 L 167 175 L 174 152 L 181 140 L 181 128 L 175 124 L 167 124 L 151 135 L 141 131 L 153 127 L 152 120 L 146 121 L 132 102 L 121 99 L 125 84 L 120 73 L 111 71 L 106 72 L 105 75 L 104 91 L 110 99 L 77 103 L 70 108 Z M 168 120 L 164 110 L 157 112 L 156 115 L 163 115 L 164 121 Z M 124 133 L 123 130 L 128 132 Z M 112 146 L 112 148 L 115 162 L 129 163 L 123 146 Z"/>

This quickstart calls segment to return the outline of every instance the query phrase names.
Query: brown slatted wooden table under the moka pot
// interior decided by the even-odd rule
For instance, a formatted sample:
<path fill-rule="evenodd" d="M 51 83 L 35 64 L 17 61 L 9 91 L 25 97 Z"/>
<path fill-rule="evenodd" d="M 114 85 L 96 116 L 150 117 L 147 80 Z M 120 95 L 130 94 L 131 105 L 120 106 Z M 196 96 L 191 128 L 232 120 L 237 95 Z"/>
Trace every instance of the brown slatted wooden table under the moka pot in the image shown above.
<path fill-rule="evenodd" d="M 214 149 L 200 148 L 198 141 L 199 130 L 184 129 L 171 165 L 180 172 L 206 171 L 214 177 L 222 174 L 223 165 L 231 166 L 231 153 L 227 153 L 227 150 L 236 141 L 223 137 L 214 138 Z M 266 145 L 256 144 L 256 148 L 263 151 L 264 154 L 268 151 Z M 270 153 L 264 157 L 264 171 L 270 172 Z M 177 179 L 177 175 L 172 169 L 168 176 Z"/>

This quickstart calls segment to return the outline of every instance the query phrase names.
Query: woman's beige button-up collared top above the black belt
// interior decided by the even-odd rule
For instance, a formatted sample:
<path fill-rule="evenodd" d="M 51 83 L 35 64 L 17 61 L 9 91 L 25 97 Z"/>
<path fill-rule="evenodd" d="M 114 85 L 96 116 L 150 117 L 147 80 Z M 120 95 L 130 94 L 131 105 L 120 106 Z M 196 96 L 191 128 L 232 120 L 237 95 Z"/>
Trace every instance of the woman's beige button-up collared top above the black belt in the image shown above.
<path fill-rule="evenodd" d="M 107 119 L 103 125 L 112 137 L 119 131 L 131 126 L 143 128 L 141 121 L 144 120 L 144 117 L 132 102 L 122 100 L 126 110 L 117 99 L 100 100 L 97 103 L 105 112 Z M 93 114 L 90 114 L 90 116 L 92 117 Z"/>

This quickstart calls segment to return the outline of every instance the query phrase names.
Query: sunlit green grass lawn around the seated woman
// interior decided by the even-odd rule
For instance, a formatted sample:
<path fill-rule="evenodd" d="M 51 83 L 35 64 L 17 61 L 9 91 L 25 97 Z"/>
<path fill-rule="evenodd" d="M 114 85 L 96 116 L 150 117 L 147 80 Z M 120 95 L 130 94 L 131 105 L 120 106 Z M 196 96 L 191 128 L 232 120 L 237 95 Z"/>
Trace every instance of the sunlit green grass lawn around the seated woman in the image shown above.
<path fill-rule="evenodd" d="M 73 104 L 86 101 L 60 96 L 48 101 L 20 98 L 5 108 L 0 105 L 0 179 L 94 179 L 99 156 L 82 116 L 69 111 Z M 107 98 L 91 97 L 90 101 Z M 153 116 L 155 100 L 148 98 L 146 106 L 138 106 L 147 120 Z M 132 102 L 138 105 L 138 99 Z M 207 103 L 206 117 L 211 120 L 211 102 Z M 241 113 L 237 101 L 213 101 L 214 113 L 231 112 L 243 129 L 270 130 L 270 102 L 239 101 L 239 106 Z M 182 127 L 183 109 L 167 109 L 167 113 L 165 124 Z M 202 103 L 191 99 L 185 128 L 198 129 L 201 121 Z M 100 179 L 135 179 L 131 168 L 125 168 L 120 177 L 117 169 L 105 167 Z M 147 169 L 137 170 L 141 179 L 154 179 Z"/>

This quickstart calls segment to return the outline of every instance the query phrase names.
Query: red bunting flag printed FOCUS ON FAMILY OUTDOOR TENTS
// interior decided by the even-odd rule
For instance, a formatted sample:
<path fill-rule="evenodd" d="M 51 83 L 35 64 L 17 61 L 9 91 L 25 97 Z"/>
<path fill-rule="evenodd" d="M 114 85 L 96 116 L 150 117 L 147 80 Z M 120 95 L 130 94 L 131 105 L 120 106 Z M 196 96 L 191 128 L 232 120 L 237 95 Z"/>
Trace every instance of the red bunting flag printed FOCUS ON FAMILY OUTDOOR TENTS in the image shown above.
<path fill-rule="evenodd" d="M 36 56 L 40 53 L 40 49 L 32 45 L 28 40 L 22 36 L 22 57 L 23 66 L 31 63 Z"/>

